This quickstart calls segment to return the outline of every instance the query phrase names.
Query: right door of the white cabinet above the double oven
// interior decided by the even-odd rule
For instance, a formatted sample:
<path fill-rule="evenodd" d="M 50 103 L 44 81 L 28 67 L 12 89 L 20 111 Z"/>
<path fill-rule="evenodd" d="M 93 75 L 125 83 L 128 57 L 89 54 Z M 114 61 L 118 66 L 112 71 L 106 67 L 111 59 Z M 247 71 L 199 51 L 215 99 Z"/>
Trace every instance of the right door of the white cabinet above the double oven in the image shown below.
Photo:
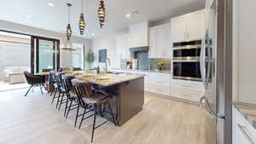
<path fill-rule="evenodd" d="M 206 31 L 206 14 L 196 14 L 189 16 L 187 20 L 188 40 L 201 40 Z"/>

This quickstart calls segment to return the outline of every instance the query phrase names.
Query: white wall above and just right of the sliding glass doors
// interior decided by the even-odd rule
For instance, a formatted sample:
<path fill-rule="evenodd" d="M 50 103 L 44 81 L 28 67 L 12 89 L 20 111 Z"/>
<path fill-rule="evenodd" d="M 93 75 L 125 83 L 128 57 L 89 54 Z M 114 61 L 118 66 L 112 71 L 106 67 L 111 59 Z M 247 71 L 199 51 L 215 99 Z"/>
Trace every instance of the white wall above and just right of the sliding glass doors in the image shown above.
<path fill-rule="evenodd" d="M 65 27 L 63 27 L 65 28 Z M 51 37 L 55 39 L 61 40 L 61 47 L 64 46 L 66 42 L 66 35 L 59 33 L 59 32 L 51 32 L 31 26 L 24 26 L 20 24 L 15 24 L 9 21 L 0 20 L 0 30 L 5 31 L 11 31 L 11 32 L 20 32 L 20 33 L 26 33 L 31 34 L 35 36 L 41 36 L 41 37 Z M 81 43 L 85 44 L 85 49 L 88 51 L 91 49 L 92 46 L 92 40 L 85 39 L 82 37 L 72 37 L 71 39 L 72 43 Z M 85 53 L 86 54 L 86 53 Z M 61 67 L 72 67 L 72 52 L 70 51 L 62 51 L 61 50 Z"/>

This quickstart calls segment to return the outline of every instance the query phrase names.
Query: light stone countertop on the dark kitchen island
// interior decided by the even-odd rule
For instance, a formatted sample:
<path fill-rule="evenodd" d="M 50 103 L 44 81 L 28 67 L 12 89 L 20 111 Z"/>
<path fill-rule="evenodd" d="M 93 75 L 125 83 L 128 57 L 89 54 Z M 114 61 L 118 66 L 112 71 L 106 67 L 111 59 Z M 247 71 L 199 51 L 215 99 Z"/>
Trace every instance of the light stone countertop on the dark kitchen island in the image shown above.
<path fill-rule="evenodd" d="M 99 84 L 102 86 L 111 86 L 113 84 L 119 84 L 126 81 L 131 81 L 137 78 L 143 78 L 144 75 L 142 74 L 128 74 L 128 73 L 121 73 L 121 74 L 96 74 L 96 73 L 70 73 L 68 75 L 73 75 L 75 78 L 79 80 L 88 81 L 92 84 Z"/>

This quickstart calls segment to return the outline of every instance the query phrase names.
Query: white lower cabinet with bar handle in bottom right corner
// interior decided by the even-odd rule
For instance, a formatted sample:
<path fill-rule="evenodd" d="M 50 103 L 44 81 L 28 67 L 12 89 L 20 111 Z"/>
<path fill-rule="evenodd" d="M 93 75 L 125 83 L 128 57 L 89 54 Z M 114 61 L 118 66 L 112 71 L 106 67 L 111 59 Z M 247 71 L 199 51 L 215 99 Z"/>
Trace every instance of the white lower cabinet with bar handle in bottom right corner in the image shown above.
<path fill-rule="evenodd" d="M 233 144 L 255 144 L 256 130 L 247 119 L 233 107 Z"/>

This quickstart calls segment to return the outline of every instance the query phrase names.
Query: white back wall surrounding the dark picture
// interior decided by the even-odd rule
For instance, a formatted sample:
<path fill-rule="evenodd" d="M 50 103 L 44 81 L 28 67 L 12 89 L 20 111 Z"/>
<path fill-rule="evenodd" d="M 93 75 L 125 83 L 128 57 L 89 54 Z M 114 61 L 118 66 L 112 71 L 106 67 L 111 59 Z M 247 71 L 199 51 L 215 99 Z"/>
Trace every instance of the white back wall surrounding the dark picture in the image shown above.
<path fill-rule="evenodd" d="M 107 57 L 110 59 L 111 65 L 110 68 L 117 68 L 118 61 L 115 59 L 116 57 L 116 36 L 108 35 L 106 37 L 98 37 L 92 42 L 92 49 L 94 54 L 96 55 L 96 61 L 92 64 L 92 67 L 104 66 L 104 63 L 98 63 L 98 50 L 99 49 L 107 49 Z"/>

